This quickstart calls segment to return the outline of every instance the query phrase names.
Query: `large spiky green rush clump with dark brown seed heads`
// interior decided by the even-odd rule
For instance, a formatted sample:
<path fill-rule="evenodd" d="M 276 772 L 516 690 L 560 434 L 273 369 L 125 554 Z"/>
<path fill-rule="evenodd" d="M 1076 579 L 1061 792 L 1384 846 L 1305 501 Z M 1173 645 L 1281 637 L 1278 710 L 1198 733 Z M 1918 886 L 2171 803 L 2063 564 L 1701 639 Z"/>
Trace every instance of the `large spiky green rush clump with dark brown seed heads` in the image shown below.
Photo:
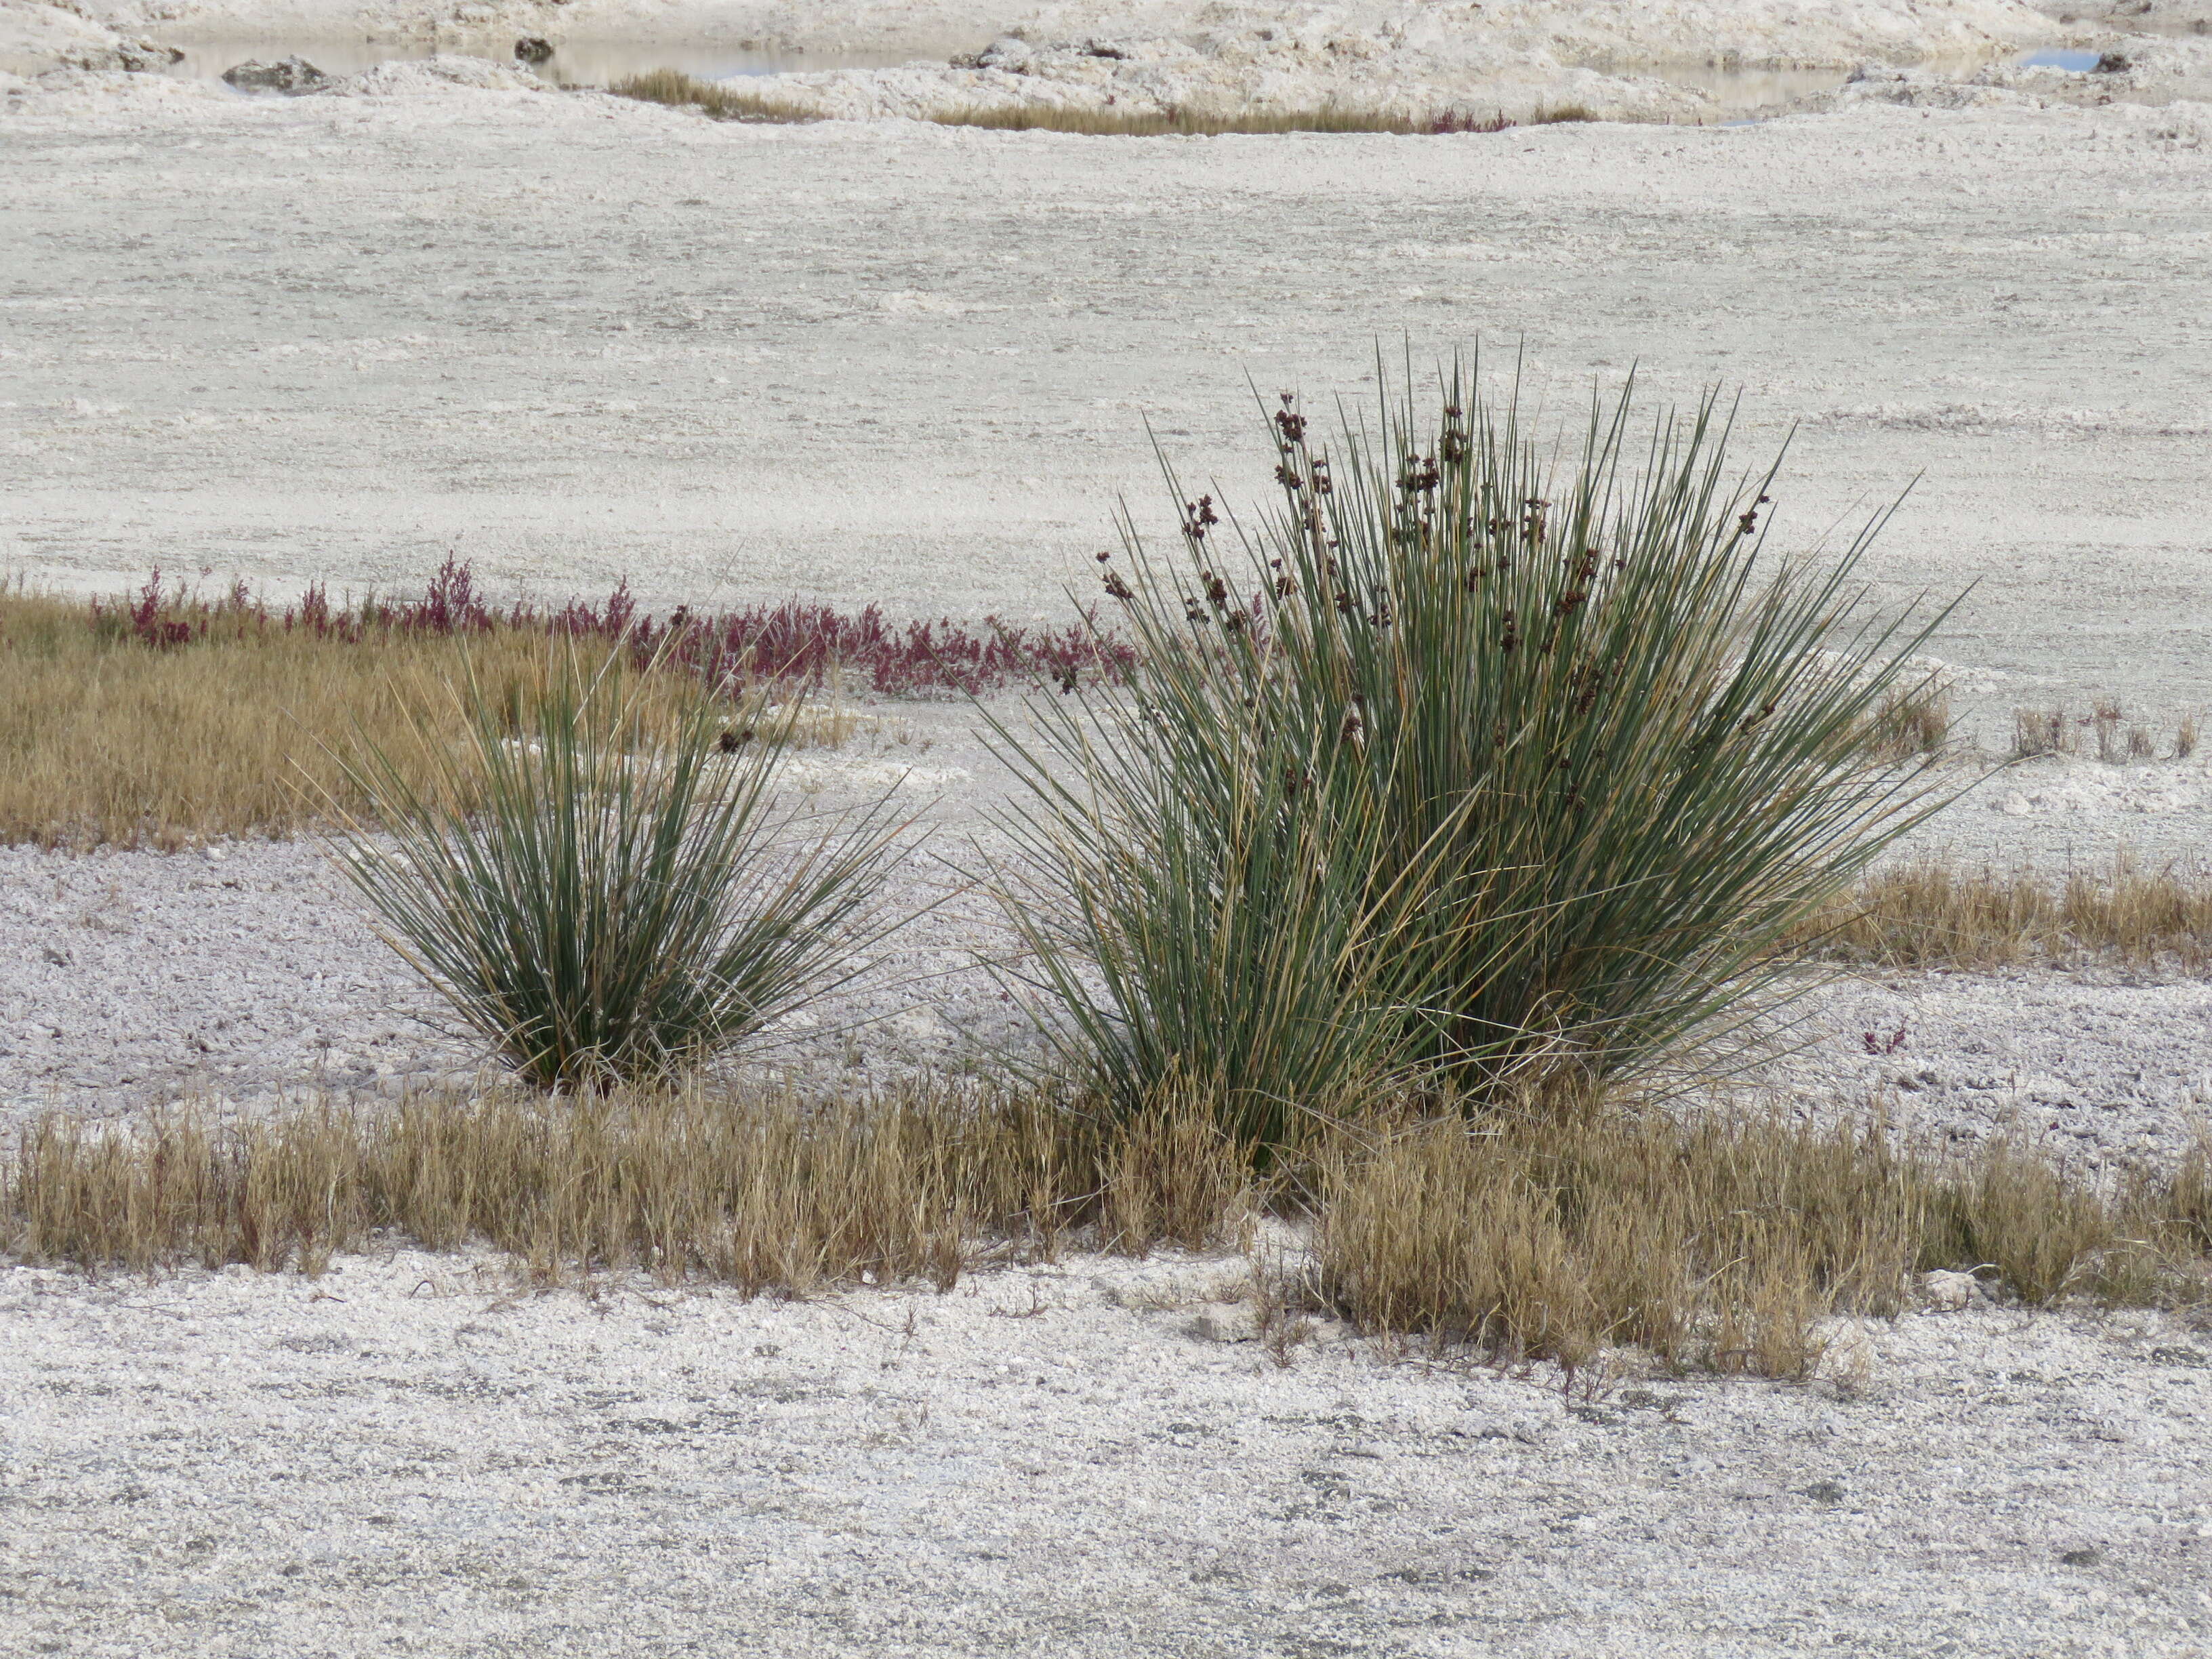
<path fill-rule="evenodd" d="M 1648 440 L 1601 400 L 1559 458 L 1458 365 L 1436 403 L 1329 451 L 1285 394 L 1250 526 L 1170 473 L 1179 555 L 1124 522 L 1106 571 L 1128 681 L 1000 723 L 1071 896 L 1013 909 L 1031 982 L 1126 1106 L 1194 1082 L 1265 1141 L 1376 1077 L 1646 1073 L 1938 805 L 1869 752 L 1936 626 L 1854 584 L 1880 520 L 1770 557 L 1712 398 Z"/>

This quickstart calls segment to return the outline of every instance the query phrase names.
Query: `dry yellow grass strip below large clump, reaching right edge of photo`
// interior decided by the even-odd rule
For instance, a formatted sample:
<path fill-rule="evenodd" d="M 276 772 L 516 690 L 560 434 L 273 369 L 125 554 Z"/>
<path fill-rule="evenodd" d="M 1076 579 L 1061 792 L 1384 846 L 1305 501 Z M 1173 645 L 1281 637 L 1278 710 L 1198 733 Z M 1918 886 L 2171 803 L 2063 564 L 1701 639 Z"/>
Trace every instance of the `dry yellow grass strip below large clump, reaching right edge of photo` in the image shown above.
<path fill-rule="evenodd" d="M 1900 1146 L 1876 1119 L 1663 1113 L 1411 1121 L 1325 1159 L 1312 1287 L 1369 1332 L 1568 1369 L 1807 1376 L 1832 1314 L 1898 1312 L 1927 1270 L 2024 1303 L 2197 1303 L 2212 1157 L 2068 1175 L 1997 1141 Z"/>

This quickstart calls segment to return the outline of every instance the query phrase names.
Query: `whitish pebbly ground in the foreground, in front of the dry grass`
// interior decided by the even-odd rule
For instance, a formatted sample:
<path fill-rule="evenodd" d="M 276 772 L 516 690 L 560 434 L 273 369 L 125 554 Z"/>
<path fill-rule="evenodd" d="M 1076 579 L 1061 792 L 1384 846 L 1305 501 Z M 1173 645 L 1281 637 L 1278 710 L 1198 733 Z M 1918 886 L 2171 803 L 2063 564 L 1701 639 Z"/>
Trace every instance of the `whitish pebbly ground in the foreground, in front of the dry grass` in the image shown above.
<path fill-rule="evenodd" d="M 1907 1314 L 1805 1387 L 1234 1340 L 1237 1256 L 745 1303 L 394 1252 L 0 1274 L 0 1648 L 2212 1648 L 2212 1340 Z M 1232 1340 L 1219 1340 L 1232 1338 Z"/>

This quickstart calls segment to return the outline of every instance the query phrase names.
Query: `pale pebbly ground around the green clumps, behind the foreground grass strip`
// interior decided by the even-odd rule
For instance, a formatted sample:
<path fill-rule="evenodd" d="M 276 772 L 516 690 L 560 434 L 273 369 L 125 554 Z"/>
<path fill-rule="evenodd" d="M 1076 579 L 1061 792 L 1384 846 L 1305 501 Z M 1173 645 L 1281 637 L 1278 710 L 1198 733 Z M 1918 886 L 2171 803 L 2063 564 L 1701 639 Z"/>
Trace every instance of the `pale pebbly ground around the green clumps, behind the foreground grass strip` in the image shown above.
<path fill-rule="evenodd" d="M 847 748 L 792 757 L 794 805 L 834 812 L 894 794 L 914 821 L 911 852 L 883 902 L 922 914 L 737 1075 L 852 1093 L 1044 1055 L 1037 1024 L 991 971 L 1018 962 L 978 887 L 1009 852 L 993 814 L 1011 796 L 973 721 L 960 706 L 883 706 Z M 2006 810 L 2020 799 L 2044 805 Z M 1898 856 L 1940 852 L 2048 880 L 2104 869 L 2119 849 L 2201 865 L 2208 812 L 2201 759 L 2055 759 L 1997 774 Z M 0 1121 L 53 1106 L 392 1097 L 467 1082 L 484 1060 L 372 933 L 314 841 L 0 849 Z M 2212 982 L 2159 969 L 1845 973 L 1772 1024 L 1734 1088 L 1809 1110 L 1880 1099 L 1918 1133 L 2013 1130 L 2093 1161 L 2166 1155 L 2212 1113 Z"/>

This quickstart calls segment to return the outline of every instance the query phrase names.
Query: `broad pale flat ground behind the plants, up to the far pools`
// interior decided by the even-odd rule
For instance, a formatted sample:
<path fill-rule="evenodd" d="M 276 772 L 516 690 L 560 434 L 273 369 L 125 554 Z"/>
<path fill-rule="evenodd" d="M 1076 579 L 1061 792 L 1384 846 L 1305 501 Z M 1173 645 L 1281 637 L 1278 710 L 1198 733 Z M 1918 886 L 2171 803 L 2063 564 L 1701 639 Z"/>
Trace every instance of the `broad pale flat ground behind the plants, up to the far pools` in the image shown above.
<path fill-rule="evenodd" d="M 144 77 L 142 77 L 144 80 Z M 2008 708 L 2201 699 L 2199 106 L 1750 128 L 1079 139 L 555 93 L 0 115 L 0 560 L 119 588 L 495 584 L 1062 613 L 1144 422 L 1265 484 L 1245 376 L 1526 349 L 1803 422 L 1785 529 L 1924 482 L 1874 571 L 1978 582 Z"/>

